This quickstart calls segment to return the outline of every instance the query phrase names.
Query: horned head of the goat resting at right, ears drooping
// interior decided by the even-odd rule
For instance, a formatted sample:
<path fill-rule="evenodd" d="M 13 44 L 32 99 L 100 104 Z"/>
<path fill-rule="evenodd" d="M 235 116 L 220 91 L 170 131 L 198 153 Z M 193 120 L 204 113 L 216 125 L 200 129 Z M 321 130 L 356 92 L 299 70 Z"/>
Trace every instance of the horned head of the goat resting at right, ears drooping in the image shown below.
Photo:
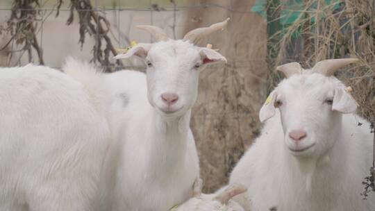
<path fill-rule="evenodd" d="M 285 146 L 293 155 L 318 157 L 333 146 L 341 113 L 355 112 L 350 90 L 333 76 L 340 67 L 357 59 L 317 62 L 303 70 L 297 62 L 276 67 L 287 77 L 278 84 L 260 109 L 260 121 L 281 114 Z"/>

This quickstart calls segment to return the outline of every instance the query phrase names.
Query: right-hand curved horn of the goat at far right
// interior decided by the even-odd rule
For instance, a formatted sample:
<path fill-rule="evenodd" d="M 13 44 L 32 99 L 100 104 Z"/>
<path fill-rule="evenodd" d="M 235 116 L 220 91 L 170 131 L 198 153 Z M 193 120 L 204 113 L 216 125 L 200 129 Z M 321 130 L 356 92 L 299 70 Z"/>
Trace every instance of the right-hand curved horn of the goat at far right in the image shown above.
<path fill-rule="evenodd" d="M 353 62 L 358 62 L 358 58 L 340 58 L 331 60 L 322 60 L 317 62 L 312 68 L 314 72 L 323 74 L 324 76 L 333 76 L 335 71 L 341 67 L 347 66 Z"/>

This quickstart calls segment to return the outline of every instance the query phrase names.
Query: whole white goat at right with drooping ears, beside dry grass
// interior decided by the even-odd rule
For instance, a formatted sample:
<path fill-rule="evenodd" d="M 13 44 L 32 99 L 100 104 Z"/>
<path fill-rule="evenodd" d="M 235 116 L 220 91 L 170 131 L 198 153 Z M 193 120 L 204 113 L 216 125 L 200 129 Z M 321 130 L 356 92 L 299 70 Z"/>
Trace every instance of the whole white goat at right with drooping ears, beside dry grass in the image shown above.
<path fill-rule="evenodd" d="M 363 200 L 362 181 L 372 161 L 369 122 L 356 115 L 356 101 L 333 76 L 356 59 L 323 60 L 303 70 L 277 67 L 287 79 L 260 110 L 263 133 L 231 174 L 249 189 L 236 201 L 247 210 L 375 210 L 374 194 Z M 278 108 L 278 110 L 276 110 Z M 360 121 L 363 125 L 357 126 Z"/>

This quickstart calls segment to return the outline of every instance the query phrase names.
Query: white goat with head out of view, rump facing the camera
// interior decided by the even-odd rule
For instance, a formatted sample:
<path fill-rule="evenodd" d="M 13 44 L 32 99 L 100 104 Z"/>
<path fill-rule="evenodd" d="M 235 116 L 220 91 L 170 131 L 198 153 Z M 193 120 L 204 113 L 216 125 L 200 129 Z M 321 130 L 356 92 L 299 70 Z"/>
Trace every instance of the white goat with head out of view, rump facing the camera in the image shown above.
<path fill-rule="evenodd" d="M 92 100 L 101 79 L 86 77 L 0 68 L 0 210 L 93 209 L 110 130 L 105 102 Z"/>

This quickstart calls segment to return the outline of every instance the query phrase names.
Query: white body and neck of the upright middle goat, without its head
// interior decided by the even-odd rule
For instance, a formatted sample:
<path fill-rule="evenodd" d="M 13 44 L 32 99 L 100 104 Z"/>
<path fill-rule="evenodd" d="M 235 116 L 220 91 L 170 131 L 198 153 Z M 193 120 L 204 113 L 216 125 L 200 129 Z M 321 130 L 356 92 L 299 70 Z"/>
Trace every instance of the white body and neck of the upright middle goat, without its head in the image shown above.
<path fill-rule="evenodd" d="M 161 118 L 147 100 L 146 76 L 140 72 L 118 71 L 105 78 L 116 140 L 106 161 L 108 172 L 116 172 L 107 179 L 109 207 L 169 210 L 189 199 L 199 175 L 190 110 L 182 117 Z"/>

